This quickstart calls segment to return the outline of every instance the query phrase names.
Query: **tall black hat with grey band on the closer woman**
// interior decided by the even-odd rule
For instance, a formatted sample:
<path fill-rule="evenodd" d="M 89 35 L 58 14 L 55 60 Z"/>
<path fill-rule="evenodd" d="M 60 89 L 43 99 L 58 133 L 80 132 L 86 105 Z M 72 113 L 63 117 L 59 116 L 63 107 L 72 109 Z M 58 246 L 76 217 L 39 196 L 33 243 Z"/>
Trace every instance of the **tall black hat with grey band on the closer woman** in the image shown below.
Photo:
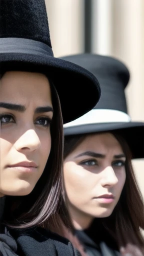
<path fill-rule="evenodd" d="M 59 95 L 63 122 L 89 111 L 100 97 L 96 77 L 53 57 L 44 0 L 0 0 L 0 72 L 47 74 Z"/>

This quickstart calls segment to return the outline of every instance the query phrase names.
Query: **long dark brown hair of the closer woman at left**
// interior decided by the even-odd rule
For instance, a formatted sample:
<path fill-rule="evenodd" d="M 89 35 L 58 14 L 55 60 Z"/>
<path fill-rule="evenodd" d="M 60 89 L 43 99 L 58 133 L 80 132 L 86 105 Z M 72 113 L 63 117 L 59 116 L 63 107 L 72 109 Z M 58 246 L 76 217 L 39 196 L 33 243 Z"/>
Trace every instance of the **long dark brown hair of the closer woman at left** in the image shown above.
<path fill-rule="evenodd" d="M 40 225 L 52 229 L 55 226 L 71 226 L 62 196 L 62 114 L 58 94 L 51 81 L 50 88 L 53 106 L 50 154 L 44 171 L 30 194 L 6 196 L 4 222 L 11 227 L 27 228 Z"/>

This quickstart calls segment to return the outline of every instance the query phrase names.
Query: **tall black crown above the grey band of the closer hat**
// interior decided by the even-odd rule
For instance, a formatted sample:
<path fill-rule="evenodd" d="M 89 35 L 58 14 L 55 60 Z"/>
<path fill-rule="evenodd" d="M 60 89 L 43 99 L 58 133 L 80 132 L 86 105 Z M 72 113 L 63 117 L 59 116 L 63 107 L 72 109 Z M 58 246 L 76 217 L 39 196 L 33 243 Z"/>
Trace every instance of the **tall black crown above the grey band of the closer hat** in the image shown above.
<path fill-rule="evenodd" d="M 51 48 L 44 0 L 0 0 L 0 38 L 32 39 Z"/>

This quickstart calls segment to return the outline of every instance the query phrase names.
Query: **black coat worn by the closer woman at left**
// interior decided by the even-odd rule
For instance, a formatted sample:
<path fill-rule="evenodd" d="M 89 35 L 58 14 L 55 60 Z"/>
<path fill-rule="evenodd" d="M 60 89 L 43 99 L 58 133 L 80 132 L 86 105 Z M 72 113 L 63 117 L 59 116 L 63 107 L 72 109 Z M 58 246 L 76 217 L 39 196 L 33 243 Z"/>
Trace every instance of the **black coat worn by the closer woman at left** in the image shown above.
<path fill-rule="evenodd" d="M 67 239 L 44 228 L 7 228 L 1 224 L 3 207 L 1 197 L 0 256 L 80 256 Z"/>

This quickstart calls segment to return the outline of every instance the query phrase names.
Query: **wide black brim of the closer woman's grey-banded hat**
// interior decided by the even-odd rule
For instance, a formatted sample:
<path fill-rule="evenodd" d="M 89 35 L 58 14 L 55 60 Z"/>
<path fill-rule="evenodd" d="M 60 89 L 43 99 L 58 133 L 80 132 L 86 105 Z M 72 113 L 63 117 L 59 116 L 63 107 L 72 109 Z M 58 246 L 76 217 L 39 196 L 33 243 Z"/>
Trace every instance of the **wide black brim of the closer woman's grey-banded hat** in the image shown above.
<path fill-rule="evenodd" d="M 99 83 L 89 71 L 53 56 L 0 53 L 0 69 L 44 72 L 52 80 L 61 104 L 63 123 L 72 121 L 94 107 L 100 97 Z"/>

